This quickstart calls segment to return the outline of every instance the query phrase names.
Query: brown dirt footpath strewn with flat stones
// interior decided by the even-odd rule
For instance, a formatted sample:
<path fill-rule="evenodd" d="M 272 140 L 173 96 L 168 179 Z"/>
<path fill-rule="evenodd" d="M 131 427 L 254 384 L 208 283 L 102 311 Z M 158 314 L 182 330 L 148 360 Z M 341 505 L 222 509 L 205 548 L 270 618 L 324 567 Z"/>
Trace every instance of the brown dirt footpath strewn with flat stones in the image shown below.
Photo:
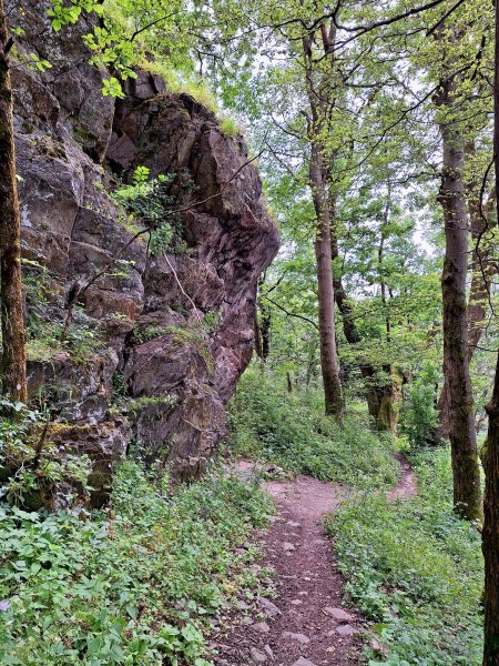
<path fill-rule="evenodd" d="M 416 494 L 410 465 L 400 456 L 401 477 L 390 501 Z M 242 474 L 258 463 L 240 461 Z M 256 608 L 234 609 L 230 629 L 213 636 L 216 666 L 346 666 L 360 663 L 366 623 L 343 606 L 344 581 L 335 564 L 326 515 L 348 497 L 348 490 L 310 476 L 268 481 L 276 515 L 261 533 L 264 566 L 275 571 L 277 598 L 259 598 Z M 246 613 L 244 613 L 246 612 Z M 241 617 L 244 615 L 244 617 Z M 258 615 L 255 617 L 255 615 Z"/>

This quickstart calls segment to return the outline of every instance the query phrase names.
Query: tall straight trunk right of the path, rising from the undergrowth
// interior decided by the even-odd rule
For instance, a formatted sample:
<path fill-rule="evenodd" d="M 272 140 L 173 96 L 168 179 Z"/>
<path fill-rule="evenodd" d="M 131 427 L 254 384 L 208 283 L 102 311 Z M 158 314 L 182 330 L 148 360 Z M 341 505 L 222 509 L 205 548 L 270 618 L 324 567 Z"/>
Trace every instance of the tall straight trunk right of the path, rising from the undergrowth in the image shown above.
<path fill-rule="evenodd" d="M 452 110 L 456 81 L 445 80 L 437 104 Z M 466 279 L 468 215 L 465 201 L 465 147 L 452 119 L 440 123 L 444 165 L 439 201 L 444 210 L 446 252 L 441 276 L 444 303 L 444 375 L 449 398 L 449 438 L 452 456 L 454 503 L 468 519 L 482 515 L 480 470 L 469 373 Z"/>

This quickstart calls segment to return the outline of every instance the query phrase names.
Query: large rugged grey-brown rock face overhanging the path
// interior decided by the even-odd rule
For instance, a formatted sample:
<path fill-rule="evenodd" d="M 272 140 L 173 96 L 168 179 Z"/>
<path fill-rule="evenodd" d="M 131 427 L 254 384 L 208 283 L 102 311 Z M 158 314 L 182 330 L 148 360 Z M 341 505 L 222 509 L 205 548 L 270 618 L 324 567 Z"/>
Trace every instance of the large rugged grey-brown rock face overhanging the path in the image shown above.
<path fill-rule="evenodd" d="M 252 355 L 257 278 L 278 249 L 258 174 L 241 138 L 156 77 L 140 72 L 119 103 L 103 98 L 81 40 L 91 26 L 54 34 L 44 2 L 9 3 L 26 31 L 12 74 L 31 394 L 49 392 L 59 420 L 105 432 L 106 461 L 124 454 L 109 442 L 129 423 L 146 461 L 201 472 Z M 52 68 L 30 69 L 33 52 Z M 169 174 L 182 252 L 151 255 L 109 196 L 139 165 Z M 82 432 L 75 447 L 98 461 Z"/>

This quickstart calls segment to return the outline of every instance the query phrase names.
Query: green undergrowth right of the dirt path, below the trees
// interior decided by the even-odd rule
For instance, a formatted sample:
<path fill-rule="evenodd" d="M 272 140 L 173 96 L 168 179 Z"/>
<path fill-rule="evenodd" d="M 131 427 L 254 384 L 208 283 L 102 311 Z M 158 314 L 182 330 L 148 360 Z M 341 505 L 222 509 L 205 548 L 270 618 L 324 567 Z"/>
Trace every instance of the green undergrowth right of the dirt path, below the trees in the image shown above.
<path fill-rule="evenodd" d="M 414 456 L 418 496 L 359 494 L 327 521 L 347 591 L 387 649 L 369 664 L 481 664 L 480 535 L 452 513 L 448 450 Z"/>

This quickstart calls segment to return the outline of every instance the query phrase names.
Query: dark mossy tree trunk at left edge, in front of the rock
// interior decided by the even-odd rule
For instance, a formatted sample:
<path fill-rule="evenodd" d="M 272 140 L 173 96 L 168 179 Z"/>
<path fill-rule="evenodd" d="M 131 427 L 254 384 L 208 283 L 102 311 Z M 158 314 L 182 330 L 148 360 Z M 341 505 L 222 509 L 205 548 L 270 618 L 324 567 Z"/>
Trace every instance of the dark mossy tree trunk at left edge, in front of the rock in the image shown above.
<path fill-rule="evenodd" d="M 16 183 L 12 88 L 9 72 L 11 47 L 0 0 L 0 295 L 2 393 L 11 401 L 27 401 L 26 333 L 22 313 L 21 220 Z"/>

